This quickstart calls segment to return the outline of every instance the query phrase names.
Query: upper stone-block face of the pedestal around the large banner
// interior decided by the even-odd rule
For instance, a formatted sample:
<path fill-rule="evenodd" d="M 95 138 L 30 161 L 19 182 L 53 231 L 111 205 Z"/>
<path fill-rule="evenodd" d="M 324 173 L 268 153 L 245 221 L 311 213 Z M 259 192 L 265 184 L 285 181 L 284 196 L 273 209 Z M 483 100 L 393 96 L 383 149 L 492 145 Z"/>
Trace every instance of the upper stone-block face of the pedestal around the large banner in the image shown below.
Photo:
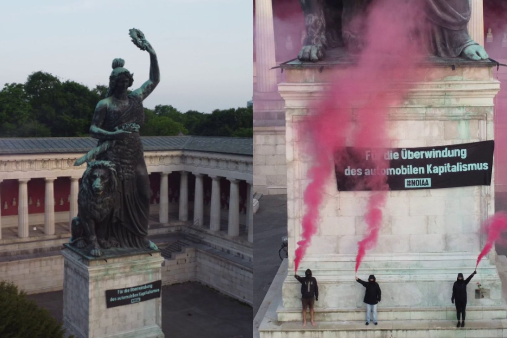
<path fill-rule="evenodd" d="M 449 69 L 448 69 L 449 68 Z M 313 69 L 287 69 L 279 85 L 286 107 L 286 166 L 289 270 L 301 239 L 306 210 L 303 195 L 311 158 L 295 130 L 309 114 L 307 107 L 327 94 L 324 74 Z M 329 74 L 332 73 L 328 71 Z M 392 147 L 422 147 L 494 139 L 493 98 L 498 81 L 487 66 L 428 67 L 400 105 L 389 107 L 388 133 Z M 350 110 L 353 114 L 353 110 Z M 366 231 L 368 192 L 338 192 L 335 174 L 325 183 L 318 232 L 308 255 L 355 254 Z M 480 224 L 494 213 L 491 186 L 386 192 L 377 246 L 368 254 L 479 252 Z"/>

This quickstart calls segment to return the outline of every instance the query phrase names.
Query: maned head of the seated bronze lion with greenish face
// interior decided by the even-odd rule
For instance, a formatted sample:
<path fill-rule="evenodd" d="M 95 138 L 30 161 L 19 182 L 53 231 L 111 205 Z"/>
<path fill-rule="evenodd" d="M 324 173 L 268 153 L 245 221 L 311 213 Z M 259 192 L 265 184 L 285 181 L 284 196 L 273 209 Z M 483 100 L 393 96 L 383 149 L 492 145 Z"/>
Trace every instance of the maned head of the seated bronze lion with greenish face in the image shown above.
<path fill-rule="evenodd" d="M 118 178 L 115 165 L 110 161 L 92 161 L 83 174 L 82 184 L 92 196 L 111 196 L 116 191 Z"/>

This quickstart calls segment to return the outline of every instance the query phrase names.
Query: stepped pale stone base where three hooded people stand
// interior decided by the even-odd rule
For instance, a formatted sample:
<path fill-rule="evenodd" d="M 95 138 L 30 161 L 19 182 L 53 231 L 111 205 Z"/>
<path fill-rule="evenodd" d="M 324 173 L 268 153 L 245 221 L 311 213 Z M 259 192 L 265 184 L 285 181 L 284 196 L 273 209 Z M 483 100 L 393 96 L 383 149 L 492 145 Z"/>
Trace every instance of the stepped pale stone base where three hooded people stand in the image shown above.
<path fill-rule="evenodd" d="M 449 281 L 455 278 L 457 272 L 469 270 L 476 255 L 462 253 L 453 257 L 429 254 L 413 257 L 407 254 L 399 261 L 396 258 L 401 257 L 393 256 L 390 262 L 386 258 L 378 255 L 370 261 L 367 257 L 364 262 L 368 274 L 374 273 L 381 281 L 379 325 L 365 325 L 364 290 L 354 281 L 354 270 L 348 266 L 348 257 L 342 256 L 342 260 L 334 260 L 333 264 L 331 261 L 311 264 L 317 267 L 312 271 L 319 282 L 315 326 L 308 323 L 305 328 L 302 327 L 300 283 L 293 277 L 294 271 L 287 272 L 286 268 L 279 271 L 276 283 L 272 284 L 273 290 L 270 288 L 268 291 L 271 296 L 264 299 L 267 311 L 257 337 L 507 337 L 505 257 L 500 259 L 501 262 L 497 261 L 496 266 L 486 260 L 481 262 L 478 275 L 468 287 L 464 328 L 456 328 L 456 310 L 450 304 Z M 337 274 L 337 268 L 341 274 Z M 300 268 L 301 271 L 305 269 L 306 266 Z M 475 299 L 477 281 L 491 290 L 490 298 Z"/>

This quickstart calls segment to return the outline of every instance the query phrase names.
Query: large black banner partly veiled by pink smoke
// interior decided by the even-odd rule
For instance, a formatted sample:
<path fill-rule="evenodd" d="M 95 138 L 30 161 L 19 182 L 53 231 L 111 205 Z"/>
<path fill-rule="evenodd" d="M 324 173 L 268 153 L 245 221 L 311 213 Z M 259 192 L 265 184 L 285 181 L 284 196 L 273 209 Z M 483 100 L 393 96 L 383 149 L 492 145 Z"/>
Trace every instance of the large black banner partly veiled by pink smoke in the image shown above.
<path fill-rule="evenodd" d="M 345 148 L 337 155 L 339 191 L 382 190 L 369 182 L 386 175 L 389 190 L 490 185 L 494 141 L 421 148 Z M 389 168 L 376 168 L 383 158 Z M 378 161 L 377 161 L 378 163 Z"/>

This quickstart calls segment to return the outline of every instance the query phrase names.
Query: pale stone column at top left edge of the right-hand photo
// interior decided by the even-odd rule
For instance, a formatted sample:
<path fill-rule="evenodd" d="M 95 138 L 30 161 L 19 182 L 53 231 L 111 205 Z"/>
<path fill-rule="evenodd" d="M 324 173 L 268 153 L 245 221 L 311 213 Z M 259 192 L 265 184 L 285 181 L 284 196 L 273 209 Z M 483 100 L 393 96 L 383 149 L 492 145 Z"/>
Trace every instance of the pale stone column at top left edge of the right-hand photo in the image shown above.
<path fill-rule="evenodd" d="M 272 0 L 257 0 L 255 4 L 255 45 L 257 63 L 257 91 L 276 91 L 275 34 L 273 30 Z"/>

